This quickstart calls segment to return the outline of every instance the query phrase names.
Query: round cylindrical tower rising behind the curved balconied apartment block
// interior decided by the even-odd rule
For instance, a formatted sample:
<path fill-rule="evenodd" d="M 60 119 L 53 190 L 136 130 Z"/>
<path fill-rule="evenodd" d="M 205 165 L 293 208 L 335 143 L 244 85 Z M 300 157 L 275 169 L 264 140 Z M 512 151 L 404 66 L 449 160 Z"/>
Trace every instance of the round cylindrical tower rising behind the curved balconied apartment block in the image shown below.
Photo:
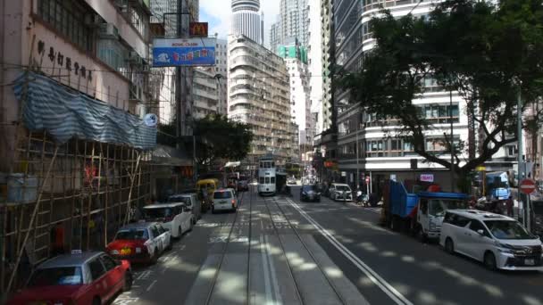
<path fill-rule="evenodd" d="M 263 44 L 263 14 L 260 0 L 232 0 L 232 29 L 230 34 L 244 35 Z"/>

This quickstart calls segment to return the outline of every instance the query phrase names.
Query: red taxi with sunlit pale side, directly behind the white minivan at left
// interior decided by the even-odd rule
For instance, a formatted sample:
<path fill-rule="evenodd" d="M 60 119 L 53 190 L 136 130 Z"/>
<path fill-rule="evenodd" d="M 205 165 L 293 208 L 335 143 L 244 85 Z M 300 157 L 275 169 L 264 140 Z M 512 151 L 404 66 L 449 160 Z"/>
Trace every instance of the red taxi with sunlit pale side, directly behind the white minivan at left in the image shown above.
<path fill-rule="evenodd" d="M 114 258 L 132 263 L 155 263 L 163 251 L 170 250 L 171 233 L 157 222 L 139 222 L 121 227 L 107 251 Z"/>

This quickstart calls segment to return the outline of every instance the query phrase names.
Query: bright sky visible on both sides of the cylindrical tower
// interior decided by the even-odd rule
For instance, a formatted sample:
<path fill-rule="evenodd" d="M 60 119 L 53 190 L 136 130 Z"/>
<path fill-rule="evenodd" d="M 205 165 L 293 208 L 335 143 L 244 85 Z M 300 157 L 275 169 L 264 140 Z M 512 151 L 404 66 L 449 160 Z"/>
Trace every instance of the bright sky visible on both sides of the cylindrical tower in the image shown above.
<path fill-rule="evenodd" d="M 260 0 L 264 12 L 264 45 L 269 45 L 270 28 L 279 14 L 279 0 Z M 219 33 L 219 38 L 228 36 L 232 9 L 230 0 L 200 0 L 200 21 L 209 22 L 209 35 Z"/>

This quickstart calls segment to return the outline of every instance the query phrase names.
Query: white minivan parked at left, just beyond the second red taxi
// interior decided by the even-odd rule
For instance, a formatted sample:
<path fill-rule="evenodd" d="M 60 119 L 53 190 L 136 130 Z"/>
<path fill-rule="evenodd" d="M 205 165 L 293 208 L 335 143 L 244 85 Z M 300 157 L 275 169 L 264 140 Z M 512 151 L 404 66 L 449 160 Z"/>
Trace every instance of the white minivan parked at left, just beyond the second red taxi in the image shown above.
<path fill-rule="evenodd" d="M 158 221 L 171 232 L 173 238 L 180 238 L 193 226 L 192 210 L 182 202 L 157 203 L 143 208 L 146 221 Z"/>

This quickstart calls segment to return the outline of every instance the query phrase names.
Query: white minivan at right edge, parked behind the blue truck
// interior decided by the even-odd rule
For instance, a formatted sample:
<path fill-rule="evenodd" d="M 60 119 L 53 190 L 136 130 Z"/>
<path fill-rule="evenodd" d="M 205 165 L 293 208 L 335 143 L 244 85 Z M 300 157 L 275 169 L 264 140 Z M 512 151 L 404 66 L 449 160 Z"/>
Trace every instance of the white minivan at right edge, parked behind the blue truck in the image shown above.
<path fill-rule="evenodd" d="M 481 210 L 448 210 L 439 243 L 489 269 L 543 270 L 542 244 L 514 218 Z"/>

